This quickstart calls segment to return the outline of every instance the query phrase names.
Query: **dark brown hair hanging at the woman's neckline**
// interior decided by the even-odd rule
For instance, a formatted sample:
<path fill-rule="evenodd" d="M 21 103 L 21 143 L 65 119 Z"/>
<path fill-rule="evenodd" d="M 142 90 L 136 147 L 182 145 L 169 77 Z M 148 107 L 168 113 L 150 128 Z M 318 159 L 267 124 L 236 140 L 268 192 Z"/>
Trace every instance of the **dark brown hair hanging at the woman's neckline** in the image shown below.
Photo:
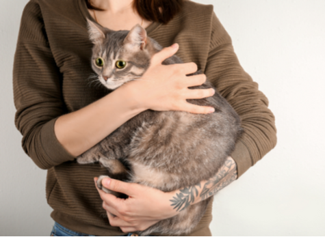
<path fill-rule="evenodd" d="M 85 0 L 87 8 L 91 10 L 103 11 L 96 8 L 90 0 Z M 133 8 L 139 15 L 150 21 L 167 24 L 172 18 L 181 11 L 183 0 L 134 0 Z"/>

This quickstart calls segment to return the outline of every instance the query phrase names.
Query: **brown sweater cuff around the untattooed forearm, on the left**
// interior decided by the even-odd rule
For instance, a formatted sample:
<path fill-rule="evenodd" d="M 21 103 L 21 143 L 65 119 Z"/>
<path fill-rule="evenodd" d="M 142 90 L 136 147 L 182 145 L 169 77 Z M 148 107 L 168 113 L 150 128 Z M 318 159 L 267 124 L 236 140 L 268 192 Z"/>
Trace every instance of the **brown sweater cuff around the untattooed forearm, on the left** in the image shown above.
<path fill-rule="evenodd" d="M 57 118 L 44 124 L 41 130 L 41 141 L 44 152 L 49 157 L 51 165 L 60 165 L 66 161 L 73 161 L 75 156 L 70 154 L 57 140 L 54 133 L 54 124 Z"/>

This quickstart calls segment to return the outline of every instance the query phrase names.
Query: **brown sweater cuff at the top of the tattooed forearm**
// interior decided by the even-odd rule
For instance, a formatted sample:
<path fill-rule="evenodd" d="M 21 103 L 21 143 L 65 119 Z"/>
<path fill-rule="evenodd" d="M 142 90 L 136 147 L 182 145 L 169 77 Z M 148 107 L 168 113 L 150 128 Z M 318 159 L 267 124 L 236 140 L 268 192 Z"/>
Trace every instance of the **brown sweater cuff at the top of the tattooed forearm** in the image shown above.
<path fill-rule="evenodd" d="M 237 165 L 237 178 L 242 176 L 252 166 L 252 160 L 250 158 L 250 152 L 246 145 L 242 141 L 237 141 L 235 150 L 231 154 L 231 157 Z"/>

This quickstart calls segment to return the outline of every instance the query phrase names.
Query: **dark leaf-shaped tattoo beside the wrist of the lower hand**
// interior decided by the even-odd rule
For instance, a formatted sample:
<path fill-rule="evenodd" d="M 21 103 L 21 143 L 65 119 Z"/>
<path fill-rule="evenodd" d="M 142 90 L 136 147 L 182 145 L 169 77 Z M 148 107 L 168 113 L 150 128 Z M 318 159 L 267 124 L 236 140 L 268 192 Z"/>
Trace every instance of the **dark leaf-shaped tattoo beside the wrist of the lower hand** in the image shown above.
<path fill-rule="evenodd" d="M 196 186 L 201 187 L 200 183 L 198 183 L 194 186 L 181 189 L 180 193 L 177 193 L 176 196 L 172 197 L 173 199 L 170 199 L 172 202 L 170 206 L 174 206 L 173 209 L 177 208 L 177 211 L 184 210 L 187 206 L 190 206 L 194 202 L 195 197 L 198 197 L 198 189 L 196 189 Z"/>

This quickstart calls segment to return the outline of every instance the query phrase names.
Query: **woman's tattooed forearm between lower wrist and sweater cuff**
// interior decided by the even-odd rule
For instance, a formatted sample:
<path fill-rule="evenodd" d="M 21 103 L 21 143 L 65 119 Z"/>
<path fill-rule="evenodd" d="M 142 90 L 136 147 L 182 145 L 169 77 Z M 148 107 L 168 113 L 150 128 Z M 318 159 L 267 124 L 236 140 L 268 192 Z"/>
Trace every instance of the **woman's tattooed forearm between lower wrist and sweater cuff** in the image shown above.
<path fill-rule="evenodd" d="M 170 199 L 170 206 L 173 206 L 177 211 L 181 211 L 187 208 L 187 206 L 196 204 L 215 195 L 236 179 L 237 165 L 233 158 L 229 156 L 216 175 L 209 180 L 204 180 L 194 186 L 174 191 L 172 199 Z"/>

